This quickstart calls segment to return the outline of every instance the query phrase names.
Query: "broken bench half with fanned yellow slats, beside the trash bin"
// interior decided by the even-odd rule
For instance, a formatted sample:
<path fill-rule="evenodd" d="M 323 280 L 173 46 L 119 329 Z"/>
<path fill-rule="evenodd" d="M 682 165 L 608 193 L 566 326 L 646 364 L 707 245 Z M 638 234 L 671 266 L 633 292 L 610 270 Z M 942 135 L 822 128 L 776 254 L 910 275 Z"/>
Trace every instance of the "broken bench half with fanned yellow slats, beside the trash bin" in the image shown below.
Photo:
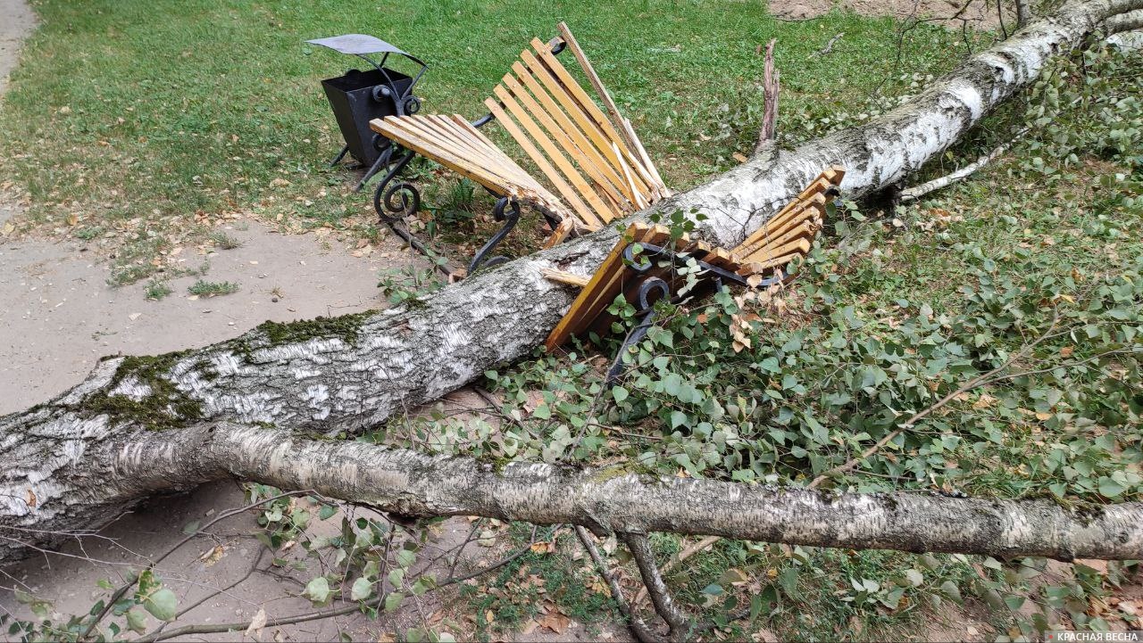
<path fill-rule="evenodd" d="M 471 122 L 456 114 L 401 115 L 369 123 L 408 150 L 377 186 L 374 204 L 383 219 L 403 217 L 419 203 L 409 184 L 389 185 L 413 154 L 449 168 L 497 198 L 494 216 L 504 225 L 473 257 L 469 273 L 505 260 L 488 255 L 515 226 L 521 206 L 547 219 L 552 234 L 544 247 L 551 247 L 671 194 L 570 30 L 563 23 L 558 29 L 558 38 L 533 39 L 531 49 L 520 54 L 485 101 L 487 115 Z M 555 58 L 565 48 L 575 56 L 606 114 Z M 480 131 L 489 122 L 504 129 L 539 177 Z"/>

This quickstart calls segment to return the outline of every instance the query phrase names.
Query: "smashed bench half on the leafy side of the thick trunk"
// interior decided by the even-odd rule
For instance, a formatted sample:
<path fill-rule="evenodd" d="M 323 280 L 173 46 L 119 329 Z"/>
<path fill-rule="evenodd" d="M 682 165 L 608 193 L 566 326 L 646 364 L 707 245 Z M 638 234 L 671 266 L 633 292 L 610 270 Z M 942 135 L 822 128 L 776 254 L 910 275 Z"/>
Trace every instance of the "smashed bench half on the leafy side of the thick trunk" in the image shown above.
<path fill-rule="evenodd" d="M 622 295 L 636 307 L 640 321 L 628 335 L 608 371 L 607 383 L 614 384 L 622 370 L 624 353 L 642 340 L 654 322 L 655 304 L 664 297 L 671 298 L 671 294 L 679 292 L 686 283 L 686 275 L 678 268 L 690 260 L 701 268 L 698 282 L 692 283 L 693 288 L 678 300 L 701 297 L 724 286 L 765 288 L 783 281 L 786 265 L 812 248 L 825 220 L 825 207 L 840 194 L 838 186 L 844 177 L 842 168 L 830 167 L 732 250 L 692 241 L 687 235 L 672 241 L 669 228 L 638 222 L 628 227 L 591 279 L 546 271 L 545 278 L 582 287 L 582 290 L 547 336 L 545 348 L 555 351 L 573 337 L 608 333 L 616 321 L 608 307 Z"/>

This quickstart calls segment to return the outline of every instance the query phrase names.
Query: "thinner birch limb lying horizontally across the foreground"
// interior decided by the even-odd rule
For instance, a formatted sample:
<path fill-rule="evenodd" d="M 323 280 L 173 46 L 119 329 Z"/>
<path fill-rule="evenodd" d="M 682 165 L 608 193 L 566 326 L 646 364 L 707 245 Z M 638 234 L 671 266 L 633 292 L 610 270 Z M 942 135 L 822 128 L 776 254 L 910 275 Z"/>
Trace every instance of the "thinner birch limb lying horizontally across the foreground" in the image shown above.
<path fill-rule="evenodd" d="M 1137 558 L 1143 504 L 1065 508 L 1052 500 L 984 500 L 928 492 L 834 495 L 708 480 L 652 479 L 537 463 L 503 468 L 360 442 L 226 423 L 105 440 L 99 463 L 55 483 L 81 512 L 102 498 L 230 475 L 415 516 L 478 515 L 573 523 L 597 533 L 670 531 L 791 545 L 960 552 L 992 556 Z M 72 514 L 74 516 L 75 514 Z M 0 522 L 0 535 L 11 524 Z M 45 524 L 37 516 L 37 528 Z M 51 522 L 51 521 L 49 521 Z M 0 560 L 6 550 L 0 547 Z"/>

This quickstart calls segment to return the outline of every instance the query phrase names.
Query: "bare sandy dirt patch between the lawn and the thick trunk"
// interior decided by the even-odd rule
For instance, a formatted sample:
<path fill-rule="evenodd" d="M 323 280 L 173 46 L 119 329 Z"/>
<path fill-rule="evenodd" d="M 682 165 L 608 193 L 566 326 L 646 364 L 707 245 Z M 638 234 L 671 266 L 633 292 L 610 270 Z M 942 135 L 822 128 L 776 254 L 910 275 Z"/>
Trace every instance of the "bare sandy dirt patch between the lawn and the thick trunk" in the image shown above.
<path fill-rule="evenodd" d="M 3 208 L 0 206 L 0 217 Z M 235 230 L 234 227 L 246 227 Z M 106 284 L 102 257 L 78 241 L 0 243 L 0 413 L 42 402 L 80 383 L 95 362 L 118 353 L 149 355 L 227 339 L 265 320 L 338 315 L 385 305 L 377 288 L 381 268 L 413 260 L 352 257 L 325 250 L 311 235 L 281 235 L 256 224 L 226 233 L 240 248 L 189 257 L 209 262 L 206 279 L 231 281 L 233 295 L 195 298 L 186 288 L 198 278 L 168 282 L 174 292 L 147 300 L 146 286 Z"/>

